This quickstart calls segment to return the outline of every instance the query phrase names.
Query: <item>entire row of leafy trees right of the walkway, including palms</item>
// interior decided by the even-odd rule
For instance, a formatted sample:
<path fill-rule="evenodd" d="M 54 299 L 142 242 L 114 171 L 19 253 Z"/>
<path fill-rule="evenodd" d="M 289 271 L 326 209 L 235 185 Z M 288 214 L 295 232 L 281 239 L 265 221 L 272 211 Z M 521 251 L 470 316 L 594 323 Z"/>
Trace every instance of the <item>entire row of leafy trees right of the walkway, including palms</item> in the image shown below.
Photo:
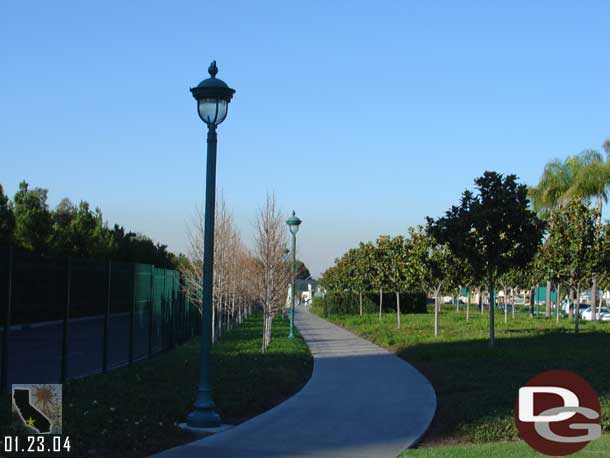
<path fill-rule="evenodd" d="M 610 154 L 610 142 L 604 147 Z M 380 305 L 384 290 L 397 298 L 401 291 L 422 290 L 435 298 L 435 334 L 441 292 L 467 287 L 480 301 L 486 289 L 493 344 L 496 285 L 506 298 L 547 281 L 547 291 L 554 287 L 558 298 L 564 287 L 570 303 L 587 287 L 595 292 L 598 285 L 610 287 L 610 227 L 601 221 L 609 183 L 610 162 L 593 151 L 547 164 L 530 189 L 515 175 L 485 172 L 475 180 L 476 191 L 465 191 L 444 216 L 426 218 L 425 226 L 409 228 L 406 236 L 382 236 L 349 250 L 324 272 L 322 285 L 357 293 L 360 304 L 370 290 L 379 291 Z M 531 293 L 530 304 L 532 313 Z M 399 303 L 396 312 L 400 327 Z M 504 313 L 507 320 L 507 307 Z M 578 313 L 575 317 L 578 331 Z"/>

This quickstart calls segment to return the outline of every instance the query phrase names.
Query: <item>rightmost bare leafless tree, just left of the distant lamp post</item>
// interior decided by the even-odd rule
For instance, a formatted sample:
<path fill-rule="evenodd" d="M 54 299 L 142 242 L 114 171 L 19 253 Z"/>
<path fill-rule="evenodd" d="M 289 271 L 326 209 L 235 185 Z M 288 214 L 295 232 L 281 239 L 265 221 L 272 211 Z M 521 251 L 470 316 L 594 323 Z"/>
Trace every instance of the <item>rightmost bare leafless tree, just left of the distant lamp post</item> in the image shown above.
<path fill-rule="evenodd" d="M 288 263 L 284 256 L 287 246 L 286 228 L 274 194 L 267 194 L 265 205 L 256 218 L 255 256 L 257 261 L 256 285 L 263 307 L 264 353 L 271 342 L 271 326 L 274 315 L 286 300 L 290 279 Z"/>

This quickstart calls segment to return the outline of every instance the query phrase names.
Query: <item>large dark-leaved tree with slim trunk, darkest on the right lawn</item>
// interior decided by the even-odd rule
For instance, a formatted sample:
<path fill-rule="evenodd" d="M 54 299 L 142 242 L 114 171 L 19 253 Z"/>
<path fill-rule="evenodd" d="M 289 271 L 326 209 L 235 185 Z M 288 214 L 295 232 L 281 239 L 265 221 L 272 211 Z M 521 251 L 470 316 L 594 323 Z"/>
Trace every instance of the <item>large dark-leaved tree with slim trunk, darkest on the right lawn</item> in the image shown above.
<path fill-rule="evenodd" d="M 475 180 L 478 194 L 465 191 L 444 217 L 427 218 L 429 232 L 466 259 L 487 280 L 489 343 L 494 344 L 494 291 L 499 275 L 528 263 L 536 253 L 543 222 L 528 208 L 527 188 L 515 175 L 485 172 Z"/>

